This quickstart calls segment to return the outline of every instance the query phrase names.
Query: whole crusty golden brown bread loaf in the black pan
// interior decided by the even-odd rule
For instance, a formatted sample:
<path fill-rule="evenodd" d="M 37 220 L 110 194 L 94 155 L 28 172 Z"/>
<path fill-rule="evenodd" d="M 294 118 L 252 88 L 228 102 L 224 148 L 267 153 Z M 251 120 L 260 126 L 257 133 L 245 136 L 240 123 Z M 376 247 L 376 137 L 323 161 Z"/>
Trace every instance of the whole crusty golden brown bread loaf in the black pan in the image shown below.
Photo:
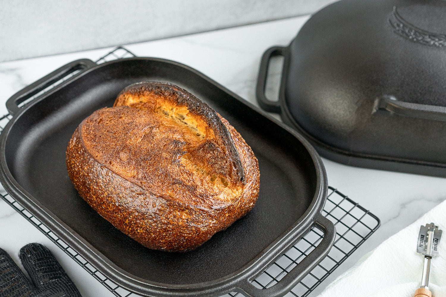
<path fill-rule="evenodd" d="M 172 95 L 183 90 L 167 84 L 141 85 L 78 126 L 66 152 L 68 174 L 116 228 L 146 247 L 185 252 L 254 207 L 257 159 L 224 118 L 214 111 L 209 119 L 209 106 L 191 103 L 193 95 Z"/>

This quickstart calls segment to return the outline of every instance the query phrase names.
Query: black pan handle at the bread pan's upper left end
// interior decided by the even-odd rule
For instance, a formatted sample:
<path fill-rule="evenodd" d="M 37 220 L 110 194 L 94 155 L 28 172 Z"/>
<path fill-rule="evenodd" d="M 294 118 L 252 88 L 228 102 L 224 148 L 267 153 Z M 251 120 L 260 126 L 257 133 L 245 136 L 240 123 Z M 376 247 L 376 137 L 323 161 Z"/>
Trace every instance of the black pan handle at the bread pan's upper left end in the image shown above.
<path fill-rule="evenodd" d="M 16 114 L 20 110 L 20 107 L 18 106 L 20 103 L 39 93 L 41 90 L 44 90 L 46 87 L 54 84 L 56 81 L 62 79 L 63 77 L 66 77 L 68 74 L 73 73 L 74 71 L 79 69 L 89 69 L 96 65 L 97 64 L 95 62 L 89 59 L 72 61 L 66 65 L 63 65 L 59 69 L 54 70 L 45 77 L 34 81 L 31 85 L 18 91 L 16 94 L 12 95 L 11 98 L 8 99 L 8 101 L 6 101 L 6 108 L 8 109 L 9 114 Z"/>

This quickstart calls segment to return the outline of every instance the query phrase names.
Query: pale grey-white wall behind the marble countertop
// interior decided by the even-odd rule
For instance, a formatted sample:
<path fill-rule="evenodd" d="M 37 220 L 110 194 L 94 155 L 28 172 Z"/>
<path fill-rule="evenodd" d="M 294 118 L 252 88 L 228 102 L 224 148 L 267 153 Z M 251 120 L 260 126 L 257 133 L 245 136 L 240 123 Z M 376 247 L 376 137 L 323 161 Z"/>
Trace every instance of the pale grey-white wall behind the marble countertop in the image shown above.
<path fill-rule="evenodd" d="M 330 2 L 335 0 L 0 0 L 0 61 L 298 16 Z"/>

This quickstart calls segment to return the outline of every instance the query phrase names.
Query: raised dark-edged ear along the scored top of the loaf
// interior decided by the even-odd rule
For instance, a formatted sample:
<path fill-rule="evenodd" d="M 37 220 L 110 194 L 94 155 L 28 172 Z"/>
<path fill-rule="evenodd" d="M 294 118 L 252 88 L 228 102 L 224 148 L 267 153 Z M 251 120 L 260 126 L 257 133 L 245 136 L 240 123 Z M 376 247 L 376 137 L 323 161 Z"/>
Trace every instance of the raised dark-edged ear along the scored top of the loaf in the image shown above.
<path fill-rule="evenodd" d="M 240 156 L 219 114 L 186 90 L 161 82 L 136 83 L 122 90 L 113 106 L 148 110 L 166 125 L 177 126 L 187 138 L 186 159 L 215 178 L 244 181 Z"/>

